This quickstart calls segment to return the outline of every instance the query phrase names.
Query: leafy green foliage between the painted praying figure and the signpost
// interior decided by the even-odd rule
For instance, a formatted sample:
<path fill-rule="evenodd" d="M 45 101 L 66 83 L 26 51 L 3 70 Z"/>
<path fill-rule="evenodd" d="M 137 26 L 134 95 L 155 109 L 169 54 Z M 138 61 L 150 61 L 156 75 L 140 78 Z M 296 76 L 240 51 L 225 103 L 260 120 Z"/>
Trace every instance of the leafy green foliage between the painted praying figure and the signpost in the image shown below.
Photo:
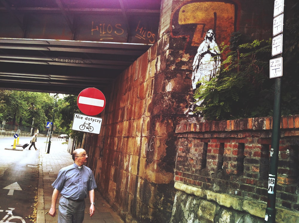
<path fill-rule="evenodd" d="M 272 109 L 273 80 L 269 80 L 271 39 L 236 45 L 242 34 L 234 33 L 231 51 L 222 62 L 220 72 L 194 93 L 204 102 L 195 108 L 205 119 L 222 120 L 268 116 Z M 219 46 L 225 50 L 227 45 Z"/>

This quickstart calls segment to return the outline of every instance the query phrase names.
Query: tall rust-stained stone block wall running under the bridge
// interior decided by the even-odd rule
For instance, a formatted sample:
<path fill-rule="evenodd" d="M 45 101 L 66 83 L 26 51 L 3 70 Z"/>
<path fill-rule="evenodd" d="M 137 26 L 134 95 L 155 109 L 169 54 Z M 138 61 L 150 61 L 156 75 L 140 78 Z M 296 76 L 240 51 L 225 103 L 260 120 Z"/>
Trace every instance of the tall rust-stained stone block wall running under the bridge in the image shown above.
<path fill-rule="evenodd" d="M 101 133 L 85 140 L 99 190 L 126 222 L 171 217 L 179 106 L 165 92 L 165 37 L 114 82 Z"/>

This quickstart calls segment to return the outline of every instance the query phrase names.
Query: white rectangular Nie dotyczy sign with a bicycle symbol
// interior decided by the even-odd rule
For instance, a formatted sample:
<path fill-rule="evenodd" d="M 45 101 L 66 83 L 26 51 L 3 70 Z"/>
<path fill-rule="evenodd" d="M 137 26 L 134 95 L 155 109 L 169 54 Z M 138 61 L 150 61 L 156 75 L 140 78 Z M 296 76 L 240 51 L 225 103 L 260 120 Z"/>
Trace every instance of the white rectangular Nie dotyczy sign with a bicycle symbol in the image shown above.
<path fill-rule="evenodd" d="M 103 119 L 99 117 L 75 113 L 72 130 L 100 134 L 102 121 Z"/>

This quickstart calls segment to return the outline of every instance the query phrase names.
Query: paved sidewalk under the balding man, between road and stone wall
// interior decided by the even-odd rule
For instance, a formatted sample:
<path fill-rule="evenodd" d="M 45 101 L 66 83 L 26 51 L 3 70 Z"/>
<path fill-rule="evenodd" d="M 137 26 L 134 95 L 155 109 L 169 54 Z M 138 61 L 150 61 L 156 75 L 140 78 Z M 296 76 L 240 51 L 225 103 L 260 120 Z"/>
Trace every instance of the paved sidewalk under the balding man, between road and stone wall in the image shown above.
<path fill-rule="evenodd" d="M 71 155 L 67 152 L 67 145 L 62 144 L 62 141 L 51 142 L 50 153 L 45 152 L 45 147 L 46 143 L 44 144 L 44 148 L 39 148 L 39 186 L 36 223 L 57 223 L 58 215 L 53 218 L 48 214 L 51 207 L 51 197 L 53 193 L 53 187 L 51 184 L 56 179 L 59 170 L 62 167 L 73 164 L 74 161 L 71 158 Z M 59 198 L 56 204 L 57 212 Z M 86 211 L 83 223 L 124 222 L 97 191 L 95 191 L 96 205 L 94 216 L 89 216 L 89 198 L 85 199 L 85 203 Z"/>

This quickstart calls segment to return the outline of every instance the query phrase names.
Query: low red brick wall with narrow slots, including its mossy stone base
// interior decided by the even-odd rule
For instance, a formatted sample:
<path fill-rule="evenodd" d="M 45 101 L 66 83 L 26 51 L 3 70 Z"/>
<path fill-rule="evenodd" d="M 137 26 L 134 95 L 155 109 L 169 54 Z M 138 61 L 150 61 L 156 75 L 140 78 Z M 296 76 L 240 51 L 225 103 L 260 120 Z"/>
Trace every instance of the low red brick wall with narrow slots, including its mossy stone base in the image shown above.
<path fill-rule="evenodd" d="M 263 222 L 271 129 L 271 117 L 181 122 L 170 222 Z M 276 222 L 298 222 L 299 115 L 282 117 L 280 132 Z"/>

